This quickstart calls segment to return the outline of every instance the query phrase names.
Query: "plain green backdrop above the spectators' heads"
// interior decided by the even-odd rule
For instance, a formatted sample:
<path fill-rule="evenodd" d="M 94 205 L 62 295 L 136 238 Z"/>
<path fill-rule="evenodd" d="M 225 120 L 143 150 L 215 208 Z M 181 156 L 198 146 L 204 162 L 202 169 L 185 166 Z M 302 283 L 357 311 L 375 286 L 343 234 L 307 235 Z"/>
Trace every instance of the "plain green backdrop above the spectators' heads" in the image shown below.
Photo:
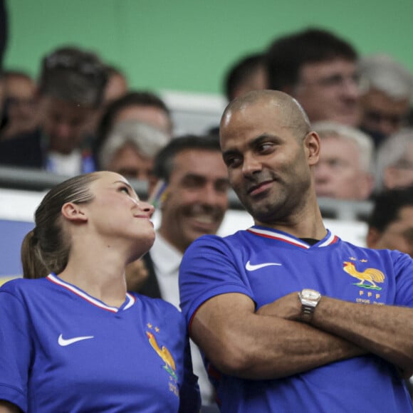
<path fill-rule="evenodd" d="M 227 68 L 276 36 L 335 31 L 360 53 L 390 53 L 413 71 L 413 0 L 7 0 L 6 68 L 38 74 L 41 57 L 84 46 L 133 88 L 220 93 Z"/>

